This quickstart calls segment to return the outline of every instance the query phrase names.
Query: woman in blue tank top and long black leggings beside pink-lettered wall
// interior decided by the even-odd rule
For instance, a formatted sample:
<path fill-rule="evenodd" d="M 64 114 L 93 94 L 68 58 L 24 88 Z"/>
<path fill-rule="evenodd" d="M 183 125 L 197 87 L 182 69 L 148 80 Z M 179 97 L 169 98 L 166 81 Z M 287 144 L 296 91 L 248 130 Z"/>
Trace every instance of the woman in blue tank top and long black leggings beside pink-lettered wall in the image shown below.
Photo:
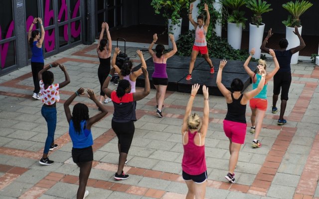
<path fill-rule="evenodd" d="M 39 22 L 39 26 L 41 28 L 41 35 L 39 30 L 33 30 L 33 25 Z M 43 50 L 42 50 L 42 43 L 44 40 L 44 28 L 42 19 L 40 17 L 34 18 L 32 24 L 28 31 L 28 41 L 29 45 L 32 50 L 32 57 L 31 57 L 31 70 L 32 70 L 32 77 L 33 77 L 33 96 L 32 98 L 36 100 L 40 100 L 39 92 L 40 92 L 40 85 L 38 80 L 38 73 L 44 67 L 44 58 L 43 58 Z"/>

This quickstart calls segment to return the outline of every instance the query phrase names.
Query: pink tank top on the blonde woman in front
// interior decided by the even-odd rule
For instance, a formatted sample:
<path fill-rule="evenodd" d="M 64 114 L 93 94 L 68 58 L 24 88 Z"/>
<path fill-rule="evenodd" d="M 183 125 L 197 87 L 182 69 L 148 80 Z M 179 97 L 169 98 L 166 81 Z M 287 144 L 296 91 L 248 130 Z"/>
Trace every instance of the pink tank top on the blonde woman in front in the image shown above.
<path fill-rule="evenodd" d="M 183 145 L 184 156 L 181 162 L 181 168 L 189 175 L 195 176 L 204 173 L 206 168 L 205 145 L 196 146 L 194 137 L 197 131 L 191 133 L 188 130 L 188 143 Z M 183 138 L 184 140 L 184 138 Z"/>

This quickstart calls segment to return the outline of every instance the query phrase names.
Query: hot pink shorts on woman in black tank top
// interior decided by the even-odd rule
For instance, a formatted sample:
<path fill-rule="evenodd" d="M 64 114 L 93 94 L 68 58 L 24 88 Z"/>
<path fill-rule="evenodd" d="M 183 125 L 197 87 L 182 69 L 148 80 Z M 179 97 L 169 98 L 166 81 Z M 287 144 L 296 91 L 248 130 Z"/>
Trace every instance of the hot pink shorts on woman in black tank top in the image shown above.
<path fill-rule="evenodd" d="M 234 143 L 244 144 L 247 124 L 226 119 L 223 123 L 225 135 Z"/>

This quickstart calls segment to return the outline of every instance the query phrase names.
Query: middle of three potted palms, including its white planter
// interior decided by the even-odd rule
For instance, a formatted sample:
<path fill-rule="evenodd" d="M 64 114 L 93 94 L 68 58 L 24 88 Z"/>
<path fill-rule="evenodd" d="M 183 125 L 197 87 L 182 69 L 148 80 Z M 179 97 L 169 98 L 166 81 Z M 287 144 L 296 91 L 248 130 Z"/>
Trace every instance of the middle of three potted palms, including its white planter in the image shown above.
<path fill-rule="evenodd" d="M 261 54 L 260 46 L 263 41 L 265 24 L 262 23 L 261 15 L 265 12 L 273 10 L 270 8 L 270 3 L 262 0 L 248 0 L 246 2 L 246 7 L 248 7 L 254 15 L 251 17 L 251 22 L 249 23 L 249 48 L 255 48 L 255 54 L 253 58 L 259 59 Z"/>

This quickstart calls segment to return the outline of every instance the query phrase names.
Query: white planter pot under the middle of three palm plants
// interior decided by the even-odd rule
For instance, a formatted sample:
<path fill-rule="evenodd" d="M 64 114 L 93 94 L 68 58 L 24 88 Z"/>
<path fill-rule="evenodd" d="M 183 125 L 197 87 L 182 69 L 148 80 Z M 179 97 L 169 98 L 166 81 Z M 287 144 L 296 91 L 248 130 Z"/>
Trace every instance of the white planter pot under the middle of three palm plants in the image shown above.
<path fill-rule="evenodd" d="M 263 36 L 264 36 L 264 29 L 265 24 L 262 23 L 262 25 L 253 25 L 249 23 L 249 49 L 248 52 L 255 48 L 255 54 L 253 55 L 253 58 L 260 59 L 261 49 L 260 46 L 263 42 Z"/>

